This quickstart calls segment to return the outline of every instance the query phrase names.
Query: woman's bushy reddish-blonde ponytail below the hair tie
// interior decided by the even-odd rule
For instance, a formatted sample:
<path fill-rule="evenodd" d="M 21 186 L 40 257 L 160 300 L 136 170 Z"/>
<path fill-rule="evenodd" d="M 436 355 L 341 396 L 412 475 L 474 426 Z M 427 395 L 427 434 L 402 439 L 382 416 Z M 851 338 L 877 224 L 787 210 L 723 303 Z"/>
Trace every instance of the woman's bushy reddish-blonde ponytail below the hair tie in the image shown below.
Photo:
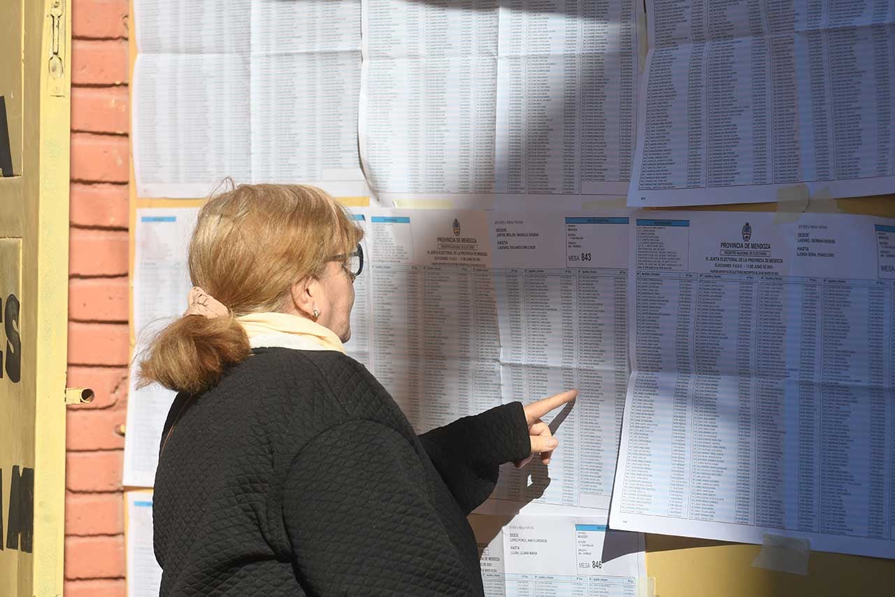
<path fill-rule="evenodd" d="M 140 362 L 139 386 L 158 382 L 175 392 L 200 394 L 250 351 L 249 337 L 233 316 L 183 316 L 150 342 Z"/>

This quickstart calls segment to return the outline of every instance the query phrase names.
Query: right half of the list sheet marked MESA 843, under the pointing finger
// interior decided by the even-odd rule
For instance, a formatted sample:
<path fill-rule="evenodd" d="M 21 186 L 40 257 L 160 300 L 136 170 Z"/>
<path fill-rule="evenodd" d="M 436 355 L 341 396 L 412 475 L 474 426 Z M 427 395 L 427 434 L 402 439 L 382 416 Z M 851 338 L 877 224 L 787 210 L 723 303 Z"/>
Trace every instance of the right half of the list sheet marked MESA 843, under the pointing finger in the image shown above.
<path fill-rule="evenodd" d="M 501 471 L 485 509 L 607 508 L 627 382 L 626 212 L 491 212 L 504 402 L 578 389 L 549 467 Z M 550 509 L 550 508 L 549 508 Z"/>

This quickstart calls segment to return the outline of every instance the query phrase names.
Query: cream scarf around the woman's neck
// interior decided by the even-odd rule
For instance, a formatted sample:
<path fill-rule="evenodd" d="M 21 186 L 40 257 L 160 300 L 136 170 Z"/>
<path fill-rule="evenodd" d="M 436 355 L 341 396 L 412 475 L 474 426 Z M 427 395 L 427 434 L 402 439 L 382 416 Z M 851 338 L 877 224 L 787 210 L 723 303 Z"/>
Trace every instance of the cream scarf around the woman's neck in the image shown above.
<path fill-rule="evenodd" d="M 328 328 L 301 316 L 286 313 L 250 313 L 236 317 L 249 336 L 251 348 L 337 350 L 345 353 L 338 336 Z"/>

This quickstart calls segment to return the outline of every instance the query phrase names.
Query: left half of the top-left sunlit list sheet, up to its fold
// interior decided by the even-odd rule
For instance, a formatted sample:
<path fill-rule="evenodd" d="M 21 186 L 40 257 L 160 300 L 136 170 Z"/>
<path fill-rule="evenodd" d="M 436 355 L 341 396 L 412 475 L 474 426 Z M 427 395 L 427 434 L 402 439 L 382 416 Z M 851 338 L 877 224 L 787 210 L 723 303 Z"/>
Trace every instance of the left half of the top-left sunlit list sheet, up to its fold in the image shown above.
<path fill-rule="evenodd" d="M 137 195 L 204 197 L 251 180 L 249 0 L 134 0 Z"/>

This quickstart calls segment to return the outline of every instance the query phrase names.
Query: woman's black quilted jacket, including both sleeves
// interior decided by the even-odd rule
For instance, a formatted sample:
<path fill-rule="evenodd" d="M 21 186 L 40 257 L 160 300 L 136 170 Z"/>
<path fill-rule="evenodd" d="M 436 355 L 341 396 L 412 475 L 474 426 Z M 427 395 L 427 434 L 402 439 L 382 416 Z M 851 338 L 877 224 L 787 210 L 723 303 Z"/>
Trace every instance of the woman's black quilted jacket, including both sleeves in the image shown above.
<path fill-rule="evenodd" d="M 255 350 L 178 395 L 163 443 L 175 420 L 153 507 L 162 595 L 481 595 L 466 515 L 530 448 L 519 402 L 417 437 L 333 351 Z"/>

